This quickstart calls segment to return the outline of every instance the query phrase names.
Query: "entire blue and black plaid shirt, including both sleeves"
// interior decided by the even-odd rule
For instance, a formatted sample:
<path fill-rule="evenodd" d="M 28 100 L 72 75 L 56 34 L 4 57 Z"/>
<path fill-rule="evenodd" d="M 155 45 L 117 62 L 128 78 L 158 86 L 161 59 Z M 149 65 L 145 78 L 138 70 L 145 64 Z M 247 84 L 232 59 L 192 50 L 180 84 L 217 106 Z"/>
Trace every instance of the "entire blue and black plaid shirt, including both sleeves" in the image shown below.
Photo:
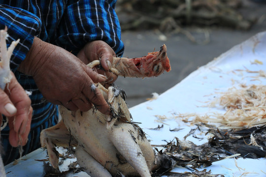
<path fill-rule="evenodd" d="M 39 148 L 40 131 L 58 121 L 58 107 L 46 102 L 31 76 L 17 71 L 29 52 L 34 36 L 60 46 L 73 54 L 89 41 L 103 40 L 117 56 L 122 56 L 124 44 L 115 13 L 116 0 L 0 0 L 0 29 L 8 28 L 7 45 L 20 39 L 13 52 L 10 68 L 25 90 L 31 91 L 33 118 L 24 154 Z M 19 157 L 18 150 L 8 143 L 6 127 L 1 132 L 7 164 Z"/>

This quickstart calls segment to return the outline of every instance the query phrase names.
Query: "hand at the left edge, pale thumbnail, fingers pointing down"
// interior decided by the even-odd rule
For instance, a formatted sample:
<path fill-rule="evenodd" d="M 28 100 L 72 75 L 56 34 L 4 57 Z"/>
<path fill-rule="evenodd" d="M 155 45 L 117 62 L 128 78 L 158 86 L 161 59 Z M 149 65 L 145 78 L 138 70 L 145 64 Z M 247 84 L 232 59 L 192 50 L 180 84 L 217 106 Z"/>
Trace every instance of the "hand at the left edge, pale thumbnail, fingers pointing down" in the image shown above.
<path fill-rule="evenodd" d="M 8 118 L 9 142 L 11 146 L 24 146 L 31 130 L 33 108 L 31 99 L 10 71 L 12 79 L 5 90 L 0 89 L 0 122 L 1 114 Z"/>

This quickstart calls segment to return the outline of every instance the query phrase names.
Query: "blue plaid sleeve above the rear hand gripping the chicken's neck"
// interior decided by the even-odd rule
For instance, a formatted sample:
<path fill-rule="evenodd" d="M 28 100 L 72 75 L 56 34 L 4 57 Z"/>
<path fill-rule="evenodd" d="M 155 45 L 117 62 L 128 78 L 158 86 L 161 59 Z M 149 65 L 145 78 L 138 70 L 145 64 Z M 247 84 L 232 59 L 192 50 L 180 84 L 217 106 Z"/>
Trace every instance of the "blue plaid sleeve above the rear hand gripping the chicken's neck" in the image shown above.
<path fill-rule="evenodd" d="M 78 0 L 66 7 L 57 45 L 76 54 L 87 42 L 103 40 L 122 56 L 124 44 L 115 13 L 116 0 Z"/>

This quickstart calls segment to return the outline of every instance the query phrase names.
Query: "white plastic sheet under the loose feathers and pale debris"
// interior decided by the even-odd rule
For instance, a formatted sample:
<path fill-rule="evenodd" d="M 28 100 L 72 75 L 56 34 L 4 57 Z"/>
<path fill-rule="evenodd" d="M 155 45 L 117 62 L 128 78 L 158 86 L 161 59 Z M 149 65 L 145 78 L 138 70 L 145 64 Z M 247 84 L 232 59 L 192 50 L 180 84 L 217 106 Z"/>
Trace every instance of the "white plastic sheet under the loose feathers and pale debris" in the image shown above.
<path fill-rule="evenodd" d="M 240 84 L 266 85 L 266 77 L 260 77 L 256 72 L 247 72 L 247 69 L 249 71 L 266 71 L 266 32 L 257 34 L 207 65 L 200 67 L 179 84 L 161 94 L 156 100 L 133 107 L 131 113 L 134 121 L 142 122 L 140 126 L 149 135 L 148 139 L 152 140 L 151 144 L 165 144 L 162 140 L 169 142 L 174 137 L 182 140 L 193 127 L 189 127 L 181 119 L 177 119 L 178 114 L 223 113 L 224 110 L 202 106 L 207 105 L 206 102 L 212 100 L 213 97 L 220 96 L 217 92 L 227 91 L 232 87 L 237 88 Z M 163 121 L 164 128 L 160 130 L 147 129 L 162 124 L 156 121 L 156 115 L 166 118 L 166 121 Z M 169 129 L 178 127 L 184 129 L 178 132 L 169 131 Z M 186 140 L 201 145 L 206 142 L 207 138 L 199 141 L 189 136 Z M 240 177 L 241 175 L 266 177 L 266 159 L 238 158 L 234 161 L 231 158 L 214 162 L 206 169 L 207 171 L 211 170 L 212 174 L 224 174 L 226 177 Z M 188 172 L 189 170 L 175 168 L 172 171 Z"/>

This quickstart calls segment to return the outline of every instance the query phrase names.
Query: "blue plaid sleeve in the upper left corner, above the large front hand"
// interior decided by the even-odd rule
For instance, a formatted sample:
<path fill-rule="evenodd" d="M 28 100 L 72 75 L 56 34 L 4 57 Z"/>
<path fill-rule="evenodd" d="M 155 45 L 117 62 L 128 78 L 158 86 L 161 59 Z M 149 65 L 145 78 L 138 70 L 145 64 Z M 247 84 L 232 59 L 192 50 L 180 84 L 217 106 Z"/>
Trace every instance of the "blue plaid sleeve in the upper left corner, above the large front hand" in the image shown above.
<path fill-rule="evenodd" d="M 37 16 L 26 10 L 0 4 L 0 29 L 4 29 L 5 26 L 9 34 L 8 46 L 12 41 L 20 39 L 10 61 L 10 68 L 16 69 L 29 52 L 41 23 Z"/>

